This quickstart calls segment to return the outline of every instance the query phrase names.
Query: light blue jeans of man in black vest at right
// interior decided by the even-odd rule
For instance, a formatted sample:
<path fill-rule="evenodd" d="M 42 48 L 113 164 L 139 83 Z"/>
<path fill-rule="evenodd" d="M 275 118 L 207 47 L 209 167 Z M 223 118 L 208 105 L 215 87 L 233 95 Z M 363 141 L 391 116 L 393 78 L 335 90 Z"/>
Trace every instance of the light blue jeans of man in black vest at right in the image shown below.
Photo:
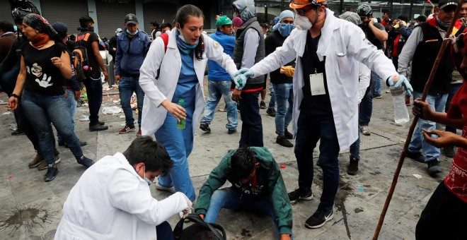
<path fill-rule="evenodd" d="M 429 106 L 432 107 L 432 110 L 436 112 L 444 112 L 447 96 L 447 94 L 427 95 L 426 102 L 429 103 Z M 422 92 L 413 92 L 413 99 L 417 99 L 417 97 L 422 97 Z M 423 152 L 426 155 L 425 162 L 439 160 L 439 148 L 434 147 L 433 145 L 429 145 L 425 141 L 425 138 L 423 138 L 422 135 L 422 129 L 434 130 L 436 129 L 436 122 L 418 119 L 417 128 L 415 128 L 415 131 L 413 132 L 412 140 L 410 141 L 408 151 L 418 152 L 423 149 Z M 432 137 L 436 138 L 436 136 Z"/>

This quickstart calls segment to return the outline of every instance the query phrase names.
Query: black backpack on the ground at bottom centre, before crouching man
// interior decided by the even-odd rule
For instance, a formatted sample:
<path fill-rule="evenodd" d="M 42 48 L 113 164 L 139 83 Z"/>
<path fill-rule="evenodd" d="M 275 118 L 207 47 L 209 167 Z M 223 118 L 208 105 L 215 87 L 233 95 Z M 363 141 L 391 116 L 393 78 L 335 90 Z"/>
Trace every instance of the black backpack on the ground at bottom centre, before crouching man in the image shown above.
<path fill-rule="evenodd" d="M 173 229 L 175 239 L 178 240 L 226 240 L 226 231 L 219 224 L 207 223 L 200 215 L 189 214 L 186 218 L 193 224 L 183 229 L 185 219 L 180 219 Z"/>

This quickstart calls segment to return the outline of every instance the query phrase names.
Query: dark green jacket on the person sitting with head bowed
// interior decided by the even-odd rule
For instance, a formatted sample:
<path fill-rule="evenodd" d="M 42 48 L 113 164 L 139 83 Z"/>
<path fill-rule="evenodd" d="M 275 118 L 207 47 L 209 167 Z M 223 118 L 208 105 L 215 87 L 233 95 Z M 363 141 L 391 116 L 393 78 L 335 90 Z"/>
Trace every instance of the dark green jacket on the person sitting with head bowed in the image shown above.
<path fill-rule="evenodd" d="M 270 196 L 274 213 L 281 234 L 292 234 L 292 205 L 290 205 L 287 189 L 280 173 L 279 166 L 267 148 L 251 147 L 255 152 L 256 161 L 260 166 L 256 169 L 257 186 L 247 186 L 242 184 L 240 179 L 236 179 L 231 168 L 231 157 L 235 151 L 229 152 L 222 158 L 219 165 L 209 174 L 200 189 L 195 212 L 205 215 L 209 208 L 211 196 L 229 180 L 232 187 L 242 194 L 252 194 L 255 196 Z"/>

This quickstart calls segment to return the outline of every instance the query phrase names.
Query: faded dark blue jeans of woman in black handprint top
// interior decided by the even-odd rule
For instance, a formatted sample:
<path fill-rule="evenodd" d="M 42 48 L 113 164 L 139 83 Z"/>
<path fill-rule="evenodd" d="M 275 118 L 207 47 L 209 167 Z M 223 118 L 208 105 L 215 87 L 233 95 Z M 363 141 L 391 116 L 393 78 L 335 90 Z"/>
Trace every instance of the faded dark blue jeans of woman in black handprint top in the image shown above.
<path fill-rule="evenodd" d="M 74 134 L 73 124 L 69 114 L 69 107 L 64 95 L 50 96 L 23 90 L 21 96 L 23 111 L 26 118 L 33 123 L 35 133 L 38 134 L 39 148 L 47 164 L 54 164 L 54 134 L 50 122 L 76 159 L 83 156 L 79 139 Z"/>

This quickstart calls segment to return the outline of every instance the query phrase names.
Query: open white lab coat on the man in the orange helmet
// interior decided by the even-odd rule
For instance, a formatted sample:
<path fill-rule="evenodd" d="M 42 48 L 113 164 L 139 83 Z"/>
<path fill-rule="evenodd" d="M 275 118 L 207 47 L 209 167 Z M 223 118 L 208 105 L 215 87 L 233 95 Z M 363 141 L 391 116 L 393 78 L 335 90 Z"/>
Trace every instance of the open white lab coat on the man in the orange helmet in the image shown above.
<path fill-rule="evenodd" d="M 328 94 L 333 108 L 339 147 L 343 150 L 354 143 L 358 137 L 359 61 L 385 80 L 398 73 L 391 64 L 391 60 L 366 39 L 364 32 L 357 25 L 335 18 L 333 14 L 333 11 L 326 9 L 326 18 L 316 53 L 320 61 L 323 61 L 324 57 L 326 60 Z M 301 88 L 304 86 L 304 76 L 301 68 L 304 66 L 301 66 L 301 56 L 304 54 L 307 33 L 308 31 L 305 30 L 292 30 L 282 47 L 278 47 L 275 52 L 251 68 L 255 73 L 254 78 L 274 71 L 296 58 L 292 115 L 294 135 L 300 114 L 299 107 L 303 99 Z"/>

